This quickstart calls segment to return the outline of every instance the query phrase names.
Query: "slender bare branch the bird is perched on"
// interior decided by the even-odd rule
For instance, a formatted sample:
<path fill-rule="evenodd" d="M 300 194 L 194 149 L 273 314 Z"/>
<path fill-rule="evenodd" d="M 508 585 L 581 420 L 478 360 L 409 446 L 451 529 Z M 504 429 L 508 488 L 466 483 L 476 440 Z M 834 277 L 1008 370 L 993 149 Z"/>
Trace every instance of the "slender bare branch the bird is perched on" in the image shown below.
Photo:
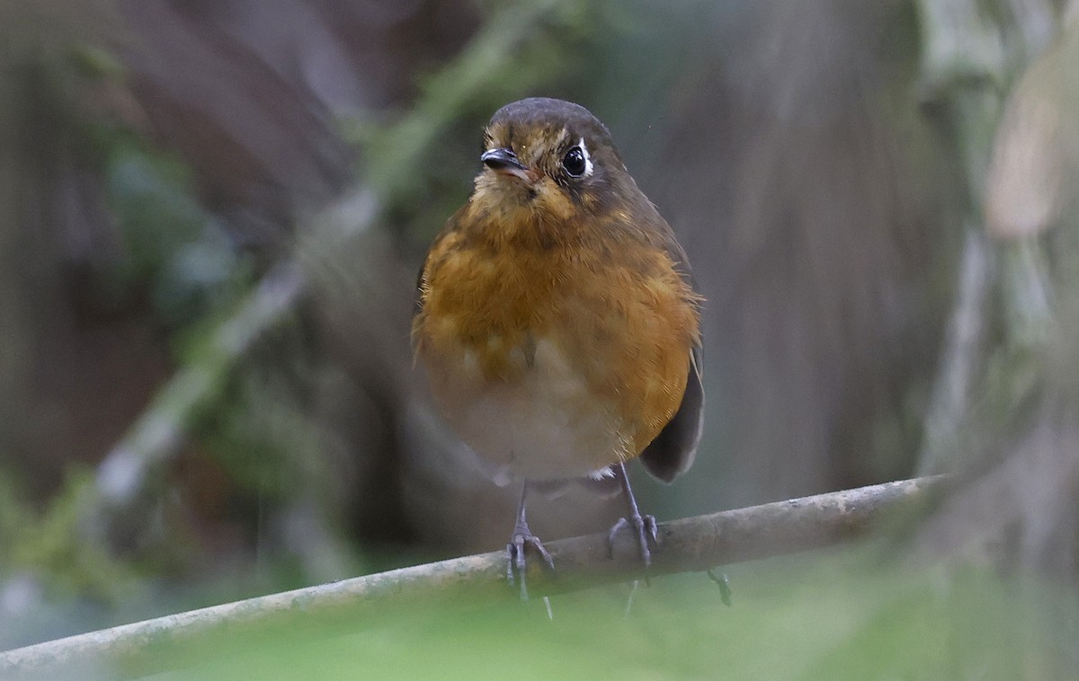
<path fill-rule="evenodd" d="M 653 573 L 707 570 L 864 536 L 885 517 L 923 508 L 942 482 L 941 476 L 916 478 L 664 523 Z M 546 595 L 639 578 L 640 561 L 629 534 L 620 538 L 613 558 L 605 534 L 550 542 L 547 547 L 558 572 L 547 574 L 532 561 L 530 590 Z M 155 659 L 160 667 L 164 653 L 193 649 L 226 631 L 234 637 L 301 621 L 341 622 L 356 628 L 377 623 L 379 612 L 408 603 L 509 602 L 516 596 L 506 587 L 505 560 L 503 552 L 465 556 L 47 641 L 0 653 L 0 677 L 53 676 L 62 669 L 121 663 L 151 673 L 154 669 L 148 667 Z"/>

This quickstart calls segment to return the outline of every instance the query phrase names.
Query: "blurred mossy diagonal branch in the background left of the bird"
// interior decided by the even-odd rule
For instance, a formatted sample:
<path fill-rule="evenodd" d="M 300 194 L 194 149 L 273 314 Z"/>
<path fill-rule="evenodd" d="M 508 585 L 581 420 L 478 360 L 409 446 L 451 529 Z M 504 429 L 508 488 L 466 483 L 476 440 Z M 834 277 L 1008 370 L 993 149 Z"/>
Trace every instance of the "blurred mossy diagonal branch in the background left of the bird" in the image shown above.
<path fill-rule="evenodd" d="M 298 301 L 313 288 L 309 277 L 317 278 L 319 267 L 331 267 L 325 261 L 314 262 L 315 256 L 333 253 L 346 240 L 375 232 L 385 206 L 415 181 L 416 168 L 423 167 L 423 158 L 439 144 L 440 136 L 476 101 L 490 96 L 491 84 L 505 80 L 500 77 L 519 72 L 514 84 L 522 92 L 536 85 L 544 73 L 519 68 L 525 58 L 520 56 L 521 48 L 557 36 L 560 27 L 572 20 L 574 6 L 566 0 L 507 3 L 449 65 L 428 80 L 411 110 L 385 129 L 380 143 L 367 150 L 379 162 L 366 178 L 369 189 L 342 197 L 303 225 L 303 238 L 293 258 L 271 270 L 232 316 L 208 334 L 203 347 L 206 351 L 192 352 L 195 359 L 161 388 L 105 457 L 95 484 L 79 490 L 85 518 L 83 533 L 103 540 L 141 532 L 136 526 L 152 516 L 147 513 L 152 505 L 149 500 L 158 494 L 156 483 L 167 474 L 192 423 L 218 403 L 223 387 L 251 346 L 291 318 Z M 544 29 L 536 30 L 537 26 Z M 351 212 L 357 206 L 359 209 Z M 319 240 L 322 244 L 317 244 Z M 382 250 L 364 254 L 371 262 L 386 258 Z M 364 263 L 350 266 L 360 273 L 378 270 Z M 372 291 L 378 293 L 372 288 L 363 295 Z M 401 311 L 408 315 L 407 308 Z"/>

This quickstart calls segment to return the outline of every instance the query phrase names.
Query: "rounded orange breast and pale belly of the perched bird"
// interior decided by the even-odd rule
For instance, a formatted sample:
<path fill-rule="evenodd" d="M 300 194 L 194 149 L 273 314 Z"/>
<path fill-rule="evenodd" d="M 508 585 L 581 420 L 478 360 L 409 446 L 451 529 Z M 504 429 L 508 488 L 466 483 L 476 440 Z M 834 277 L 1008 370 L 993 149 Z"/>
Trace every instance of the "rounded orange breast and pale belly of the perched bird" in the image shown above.
<path fill-rule="evenodd" d="M 695 295 L 665 249 L 597 228 L 571 244 L 432 249 L 413 336 L 443 416 L 511 475 L 585 475 L 638 456 L 678 409 Z"/>

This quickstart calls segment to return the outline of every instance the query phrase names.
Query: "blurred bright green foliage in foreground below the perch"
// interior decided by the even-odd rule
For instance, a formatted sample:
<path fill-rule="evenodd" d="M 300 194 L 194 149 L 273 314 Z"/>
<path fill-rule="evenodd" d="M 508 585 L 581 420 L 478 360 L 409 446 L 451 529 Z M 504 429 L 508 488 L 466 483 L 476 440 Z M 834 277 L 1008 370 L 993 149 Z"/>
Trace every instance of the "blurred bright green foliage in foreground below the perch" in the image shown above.
<path fill-rule="evenodd" d="M 878 562 L 876 550 L 757 561 L 518 608 L 431 603 L 361 631 L 312 628 L 156 661 L 154 678 L 1016 679 L 1066 678 L 1074 594 L 980 569 L 945 575 Z M 1062 623 L 1068 622 L 1065 629 Z M 139 669 L 131 669 L 138 673 Z"/>

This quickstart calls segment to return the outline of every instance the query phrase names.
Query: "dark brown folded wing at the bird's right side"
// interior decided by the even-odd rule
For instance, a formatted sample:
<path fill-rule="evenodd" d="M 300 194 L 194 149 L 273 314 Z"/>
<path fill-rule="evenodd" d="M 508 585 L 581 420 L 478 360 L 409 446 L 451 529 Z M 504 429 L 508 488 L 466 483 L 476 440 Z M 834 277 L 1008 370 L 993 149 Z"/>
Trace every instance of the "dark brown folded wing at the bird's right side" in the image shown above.
<path fill-rule="evenodd" d="M 666 226 L 666 225 L 665 225 Z M 689 288 L 696 292 L 697 286 L 689 273 L 685 251 L 674 239 L 674 234 L 667 227 L 665 234 L 667 252 L 670 254 L 679 274 Z M 641 462 L 648 473 L 665 483 L 684 473 L 697 454 L 697 444 L 704 429 L 705 389 L 700 383 L 704 348 L 695 345 L 689 350 L 689 375 L 685 383 L 685 393 L 678 412 L 667 422 L 656 439 L 641 453 Z"/>

